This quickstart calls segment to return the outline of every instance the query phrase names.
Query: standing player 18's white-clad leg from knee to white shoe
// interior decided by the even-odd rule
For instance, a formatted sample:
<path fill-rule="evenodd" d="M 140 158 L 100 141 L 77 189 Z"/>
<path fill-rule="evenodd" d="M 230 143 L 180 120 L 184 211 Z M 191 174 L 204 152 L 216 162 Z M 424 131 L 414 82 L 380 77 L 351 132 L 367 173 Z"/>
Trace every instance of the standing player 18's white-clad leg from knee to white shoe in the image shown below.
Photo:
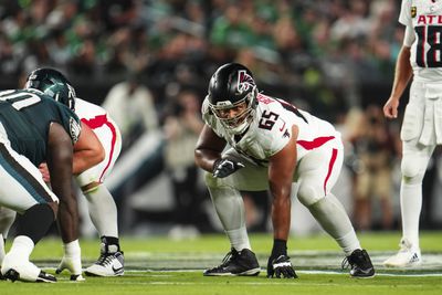
<path fill-rule="evenodd" d="M 400 207 L 402 239 L 399 252 L 383 262 L 386 266 L 406 267 L 421 263 L 419 245 L 419 218 L 422 208 L 422 180 L 434 146 L 421 146 L 415 141 L 402 144 Z"/>

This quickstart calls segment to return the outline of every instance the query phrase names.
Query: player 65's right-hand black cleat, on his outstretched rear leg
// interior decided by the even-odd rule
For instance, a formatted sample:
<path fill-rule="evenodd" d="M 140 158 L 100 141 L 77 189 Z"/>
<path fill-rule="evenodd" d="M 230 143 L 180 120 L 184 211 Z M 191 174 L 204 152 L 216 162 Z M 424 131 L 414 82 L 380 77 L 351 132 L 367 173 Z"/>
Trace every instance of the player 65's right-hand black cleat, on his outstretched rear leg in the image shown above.
<path fill-rule="evenodd" d="M 375 276 L 375 267 L 367 251 L 357 249 L 343 261 L 343 268 L 350 265 L 351 277 L 368 278 Z"/>

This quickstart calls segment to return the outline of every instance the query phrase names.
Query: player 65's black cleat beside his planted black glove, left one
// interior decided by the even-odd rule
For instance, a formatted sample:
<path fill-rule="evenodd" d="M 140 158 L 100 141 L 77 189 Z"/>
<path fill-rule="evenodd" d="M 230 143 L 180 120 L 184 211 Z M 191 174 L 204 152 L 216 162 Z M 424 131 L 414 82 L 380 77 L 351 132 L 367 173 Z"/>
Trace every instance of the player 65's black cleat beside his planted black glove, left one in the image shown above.
<path fill-rule="evenodd" d="M 222 260 L 222 264 L 210 270 L 206 270 L 204 276 L 229 276 L 244 275 L 254 276 L 260 274 L 260 264 L 255 254 L 249 249 L 240 252 L 232 249 Z"/>

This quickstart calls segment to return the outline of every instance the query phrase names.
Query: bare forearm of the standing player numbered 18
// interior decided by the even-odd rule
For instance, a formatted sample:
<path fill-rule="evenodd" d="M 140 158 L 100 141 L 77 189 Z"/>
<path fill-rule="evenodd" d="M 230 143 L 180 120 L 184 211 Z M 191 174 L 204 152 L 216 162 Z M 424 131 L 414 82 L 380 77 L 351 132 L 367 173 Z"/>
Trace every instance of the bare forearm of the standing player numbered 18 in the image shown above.
<path fill-rule="evenodd" d="M 403 91 L 407 88 L 411 76 L 412 69 L 410 65 L 410 48 L 403 46 L 396 63 L 394 82 L 391 88 L 390 97 L 399 101 L 403 94 Z"/>

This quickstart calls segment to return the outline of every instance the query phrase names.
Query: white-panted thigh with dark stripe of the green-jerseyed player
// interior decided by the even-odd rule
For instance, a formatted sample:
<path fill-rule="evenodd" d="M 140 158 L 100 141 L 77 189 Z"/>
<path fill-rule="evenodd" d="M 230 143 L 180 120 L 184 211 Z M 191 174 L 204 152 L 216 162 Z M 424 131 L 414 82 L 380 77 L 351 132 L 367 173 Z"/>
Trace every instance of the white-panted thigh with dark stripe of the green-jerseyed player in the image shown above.
<path fill-rule="evenodd" d="M 0 204 L 23 212 L 38 203 L 59 199 L 44 183 L 39 169 L 25 157 L 1 145 Z"/>

